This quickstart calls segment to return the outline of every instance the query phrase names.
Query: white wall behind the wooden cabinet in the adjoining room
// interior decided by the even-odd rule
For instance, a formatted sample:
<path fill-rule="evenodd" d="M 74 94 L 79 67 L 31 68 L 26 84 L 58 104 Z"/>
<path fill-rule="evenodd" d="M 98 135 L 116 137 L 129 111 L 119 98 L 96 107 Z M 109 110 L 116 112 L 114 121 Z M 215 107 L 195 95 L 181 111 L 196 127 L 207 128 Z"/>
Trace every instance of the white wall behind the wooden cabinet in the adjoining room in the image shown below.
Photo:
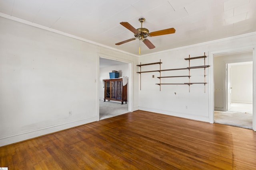
<path fill-rule="evenodd" d="M 112 70 L 118 71 L 119 77 L 122 77 L 122 76 L 129 77 L 128 64 L 120 64 L 120 65 L 116 65 L 116 66 L 107 66 L 107 67 L 100 68 L 100 82 L 99 82 L 99 89 L 100 89 L 99 98 L 100 98 L 100 100 L 104 100 L 104 88 L 103 88 L 102 80 L 109 79 L 110 78 L 109 73 L 112 72 Z M 127 94 L 128 94 L 128 84 L 127 84 Z M 127 98 L 127 102 L 128 102 L 128 98 Z"/>

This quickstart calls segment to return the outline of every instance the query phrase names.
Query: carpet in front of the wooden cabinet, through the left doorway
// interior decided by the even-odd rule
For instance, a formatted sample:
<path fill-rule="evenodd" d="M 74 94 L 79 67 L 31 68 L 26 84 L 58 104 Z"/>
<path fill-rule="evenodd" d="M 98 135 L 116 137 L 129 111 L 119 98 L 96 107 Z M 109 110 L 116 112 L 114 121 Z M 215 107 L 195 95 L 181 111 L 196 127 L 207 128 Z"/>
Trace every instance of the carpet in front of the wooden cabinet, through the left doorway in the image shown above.
<path fill-rule="evenodd" d="M 128 113 L 128 104 L 100 100 L 100 120 Z"/>

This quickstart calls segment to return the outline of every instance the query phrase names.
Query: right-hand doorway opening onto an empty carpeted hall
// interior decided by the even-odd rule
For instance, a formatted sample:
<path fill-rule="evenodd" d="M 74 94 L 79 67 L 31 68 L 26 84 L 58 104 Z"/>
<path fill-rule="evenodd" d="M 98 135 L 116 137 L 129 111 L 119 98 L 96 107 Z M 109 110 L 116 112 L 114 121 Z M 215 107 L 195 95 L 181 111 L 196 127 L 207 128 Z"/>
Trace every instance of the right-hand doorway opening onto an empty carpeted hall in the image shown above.
<path fill-rule="evenodd" d="M 214 123 L 252 129 L 253 53 L 214 55 Z"/>

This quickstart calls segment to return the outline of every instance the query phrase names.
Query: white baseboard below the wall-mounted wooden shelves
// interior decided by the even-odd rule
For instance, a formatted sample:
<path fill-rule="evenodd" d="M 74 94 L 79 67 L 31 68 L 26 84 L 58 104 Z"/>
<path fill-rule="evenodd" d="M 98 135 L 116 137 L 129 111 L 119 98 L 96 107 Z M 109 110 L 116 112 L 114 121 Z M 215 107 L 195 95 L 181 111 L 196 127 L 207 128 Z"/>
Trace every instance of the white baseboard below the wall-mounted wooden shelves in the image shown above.
<path fill-rule="evenodd" d="M 144 110 L 144 111 L 154 112 L 154 113 L 160 113 L 160 114 L 164 114 L 164 115 L 171 115 L 171 116 L 182 117 L 182 118 L 186 118 L 186 119 L 197 120 L 197 121 L 204 121 L 204 122 L 210 121 L 209 117 L 206 117 L 206 116 L 191 115 L 188 113 L 173 112 L 173 111 L 152 109 L 152 108 L 146 108 L 146 107 L 139 107 L 139 109 Z"/>

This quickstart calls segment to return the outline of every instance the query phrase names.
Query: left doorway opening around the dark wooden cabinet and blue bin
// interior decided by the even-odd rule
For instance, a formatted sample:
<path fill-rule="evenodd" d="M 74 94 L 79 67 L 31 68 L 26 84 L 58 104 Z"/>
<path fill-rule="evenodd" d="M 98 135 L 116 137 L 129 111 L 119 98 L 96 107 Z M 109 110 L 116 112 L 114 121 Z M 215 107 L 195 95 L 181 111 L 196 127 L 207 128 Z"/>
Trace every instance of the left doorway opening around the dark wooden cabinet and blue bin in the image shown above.
<path fill-rule="evenodd" d="M 121 115 L 128 113 L 129 111 L 129 84 L 127 84 L 127 104 L 121 104 L 117 101 L 104 102 L 104 79 L 110 78 L 110 72 L 113 70 L 118 71 L 118 77 L 129 77 L 130 76 L 130 66 L 129 63 L 117 61 L 113 59 L 108 59 L 104 57 L 99 57 L 99 116 L 98 120 L 103 120 L 109 117 L 114 117 L 116 115 Z M 128 78 L 129 79 L 129 78 Z M 128 81 L 129 82 L 129 81 Z"/>

